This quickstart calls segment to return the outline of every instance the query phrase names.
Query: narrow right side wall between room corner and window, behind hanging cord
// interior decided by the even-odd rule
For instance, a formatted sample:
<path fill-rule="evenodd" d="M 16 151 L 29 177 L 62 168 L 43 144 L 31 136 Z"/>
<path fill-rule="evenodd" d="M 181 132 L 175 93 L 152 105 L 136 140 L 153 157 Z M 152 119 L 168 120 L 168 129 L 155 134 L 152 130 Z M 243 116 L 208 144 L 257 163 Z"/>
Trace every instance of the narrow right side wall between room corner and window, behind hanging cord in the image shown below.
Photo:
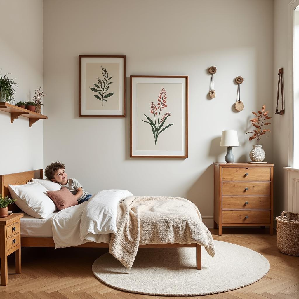
<path fill-rule="evenodd" d="M 274 0 L 273 111 L 276 109 L 279 68 L 283 68 L 285 87 L 285 114 L 273 116 L 274 216 L 280 216 L 282 211 L 286 211 L 288 203 L 287 171 L 283 167 L 289 166 L 289 118 L 293 113 L 289 106 L 289 3 L 290 0 Z M 281 98 L 278 107 L 281 107 Z"/>

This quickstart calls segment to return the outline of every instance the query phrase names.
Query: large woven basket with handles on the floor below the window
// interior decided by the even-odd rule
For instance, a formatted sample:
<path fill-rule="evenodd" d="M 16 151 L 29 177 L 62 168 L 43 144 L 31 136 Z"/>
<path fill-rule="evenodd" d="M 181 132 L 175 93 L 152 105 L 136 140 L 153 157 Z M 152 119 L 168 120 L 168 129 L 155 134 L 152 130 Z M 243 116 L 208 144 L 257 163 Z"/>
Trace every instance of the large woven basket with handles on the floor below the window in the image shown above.
<path fill-rule="evenodd" d="M 282 212 L 277 221 L 277 247 L 279 251 L 299 256 L 299 214 Z"/>

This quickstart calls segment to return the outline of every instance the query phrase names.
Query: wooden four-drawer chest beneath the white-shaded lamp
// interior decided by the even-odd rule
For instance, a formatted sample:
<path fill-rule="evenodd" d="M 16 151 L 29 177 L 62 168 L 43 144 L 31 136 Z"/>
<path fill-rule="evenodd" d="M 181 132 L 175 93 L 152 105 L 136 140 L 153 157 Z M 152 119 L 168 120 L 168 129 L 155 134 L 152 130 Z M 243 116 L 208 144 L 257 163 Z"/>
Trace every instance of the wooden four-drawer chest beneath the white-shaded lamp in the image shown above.
<path fill-rule="evenodd" d="M 274 164 L 214 163 L 214 228 L 269 226 L 273 234 Z"/>

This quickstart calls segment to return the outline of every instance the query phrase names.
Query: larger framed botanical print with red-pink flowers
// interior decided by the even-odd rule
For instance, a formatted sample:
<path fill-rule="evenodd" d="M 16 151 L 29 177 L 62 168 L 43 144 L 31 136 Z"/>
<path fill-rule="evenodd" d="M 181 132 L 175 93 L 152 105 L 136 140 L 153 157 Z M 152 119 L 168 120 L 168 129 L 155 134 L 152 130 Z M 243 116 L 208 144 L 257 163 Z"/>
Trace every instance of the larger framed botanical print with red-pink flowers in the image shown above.
<path fill-rule="evenodd" d="M 188 157 L 188 76 L 131 76 L 130 156 Z"/>

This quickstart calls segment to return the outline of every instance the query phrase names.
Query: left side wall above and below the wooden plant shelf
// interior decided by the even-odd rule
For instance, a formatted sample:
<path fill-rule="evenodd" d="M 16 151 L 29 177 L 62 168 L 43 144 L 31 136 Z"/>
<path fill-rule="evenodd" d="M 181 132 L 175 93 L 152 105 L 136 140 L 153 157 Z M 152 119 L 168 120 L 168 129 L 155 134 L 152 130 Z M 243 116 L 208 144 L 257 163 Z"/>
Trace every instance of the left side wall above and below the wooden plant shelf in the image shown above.
<path fill-rule="evenodd" d="M 16 78 L 15 101 L 28 101 L 34 89 L 43 86 L 42 77 L 42 0 L 0 0 L 1 74 Z M 0 111 L 0 174 L 43 167 L 43 121 L 29 127 L 20 116 L 10 123 L 10 114 Z"/>

